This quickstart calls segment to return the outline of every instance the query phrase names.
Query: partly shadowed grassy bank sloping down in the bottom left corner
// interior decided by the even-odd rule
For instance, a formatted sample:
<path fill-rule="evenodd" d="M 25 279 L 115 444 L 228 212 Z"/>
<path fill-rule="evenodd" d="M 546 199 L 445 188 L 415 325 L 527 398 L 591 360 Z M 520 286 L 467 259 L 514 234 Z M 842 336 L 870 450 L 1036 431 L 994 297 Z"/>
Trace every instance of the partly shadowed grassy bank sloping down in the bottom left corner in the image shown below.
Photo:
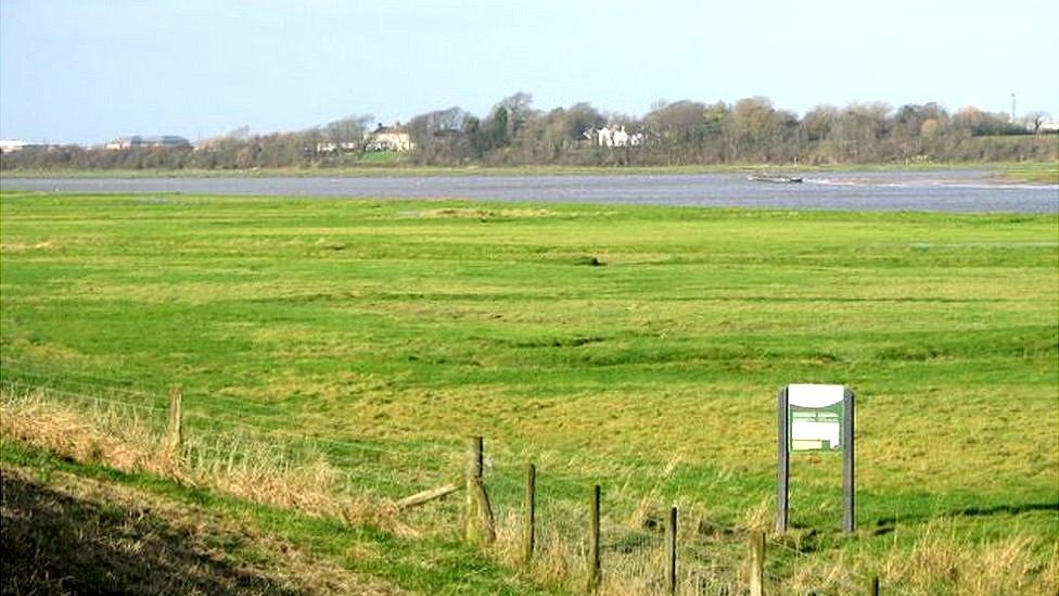
<path fill-rule="evenodd" d="M 0 442 L 5 593 L 548 594 L 454 540 L 261 506 Z"/>

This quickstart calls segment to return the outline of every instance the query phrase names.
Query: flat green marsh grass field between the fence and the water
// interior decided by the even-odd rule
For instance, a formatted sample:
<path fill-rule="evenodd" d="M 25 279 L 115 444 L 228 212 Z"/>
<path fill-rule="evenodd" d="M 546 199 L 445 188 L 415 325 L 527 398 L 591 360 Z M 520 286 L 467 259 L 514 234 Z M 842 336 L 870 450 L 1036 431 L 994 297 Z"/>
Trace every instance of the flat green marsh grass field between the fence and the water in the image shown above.
<path fill-rule="evenodd" d="M 501 517 L 532 458 L 553 520 L 599 482 L 610 528 L 767 527 L 776 390 L 845 383 L 860 531 L 796 456 L 776 585 L 1056 589 L 1055 215 L 4 192 L 0 257 L 7 377 L 391 449 L 335 456 L 381 498 L 483 434 Z"/>

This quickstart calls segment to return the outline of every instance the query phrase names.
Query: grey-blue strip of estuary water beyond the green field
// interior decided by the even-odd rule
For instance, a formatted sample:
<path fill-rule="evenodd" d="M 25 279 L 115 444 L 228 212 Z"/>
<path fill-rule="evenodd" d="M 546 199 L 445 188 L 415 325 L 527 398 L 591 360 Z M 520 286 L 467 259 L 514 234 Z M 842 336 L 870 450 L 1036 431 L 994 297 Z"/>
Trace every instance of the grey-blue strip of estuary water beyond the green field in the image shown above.
<path fill-rule="evenodd" d="M 796 174 L 795 174 L 796 176 Z M 843 172 L 802 183 L 747 174 L 400 177 L 0 178 L 4 190 L 393 199 L 476 199 L 700 207 L 1059 213 L 1059 186 L 1001 183 L 981 170 Z"/>

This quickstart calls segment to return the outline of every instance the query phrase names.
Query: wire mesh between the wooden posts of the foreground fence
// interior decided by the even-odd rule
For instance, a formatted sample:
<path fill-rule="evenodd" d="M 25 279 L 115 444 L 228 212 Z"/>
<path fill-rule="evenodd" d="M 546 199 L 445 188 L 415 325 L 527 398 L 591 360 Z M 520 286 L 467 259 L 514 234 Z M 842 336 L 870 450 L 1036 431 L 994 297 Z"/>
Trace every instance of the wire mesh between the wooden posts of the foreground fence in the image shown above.
<path fill-rule="evenodd" d="M 137 386 L 127 379 L 98 372 L 56 371 L 33 363 L 4 358 L 0 362 L 0 390 L 7 405 L 47 403 L 74 410 L 105 433 L 164 442 L 171 432 L 171 402 L 162 391 Z M 248 416 L 241 402 L 227 396 L 183 395 L 180 417 L 183 440 L 182 465 L 202 472 L 298 474 L 318 470 L 327 479 L 332 498 L 369 497 L 393 503 L 410 493 L 445 482 L 461 481 L 467 454 L 465 439 L 387 441 L 379 438 L 343 439 L 298 432 L 296 422 L 282 420 L 280 410 L 264 417 Z M 244 404 L 245 406 L 245 404 Z M 261 406 L 255 406 L 261 410 Z M 521 508 L 525 499 L 526 462 L 539 453 L 498 448 L 483 457 L 484 478 L 497 511 L 498 533 L 518 543 L 523 532 Z M 534 457 L 536 456 L 536 457 Z M 553 455 L 549 460 L 561 460 Z M 323 471 L 320 471 L 323 470 Z M 256 477 L 255 477 L 256 478 Z M 537 533 L 540 536 L 536 565 L 556 568 L 554 573 L 579 576 L 589 573 L 585 563 L 586 518 L 589 484 L 569 474 L 543 474 L 537 484 Z M 662 486 L 652 493 L 663 494 Z M 579 499 L 574 495 L 584 495 Z M 615 497 L 617 498 L 617 497 Z M 626 495 L 627 499 L 627 495 Z M 447 499 L 429 511 L 403 513 L 418 523 L 455 533 L 460 528 L 461 499 Z M 625 503 L 623 510 L 636 509 Z M 655 511 L 604 517 L 599 530 L 599 559 L 605 569 L 604 591 L 617 593 L 666 593 L 662 568 L 666 558 L 665 529 Z M 705 516 L 684 521 L 680 544 L 674 555 L 679 594 L 739 594 L 745 589 L 747 543 L 752 528 L 728 524 Z M 802 568 L 808 555 L 796 544 L 768 536 L 770 558 L 763 578 L 771 591 L 790 585 L 791 571 Z M 541 562 L 545 561 L 545 562 Z M 867 574 L 849 571 L 820 579 L 814 588 L 820 594 L 864 593 Z M 888 589 L 888 593 L 895 593 Z"/>

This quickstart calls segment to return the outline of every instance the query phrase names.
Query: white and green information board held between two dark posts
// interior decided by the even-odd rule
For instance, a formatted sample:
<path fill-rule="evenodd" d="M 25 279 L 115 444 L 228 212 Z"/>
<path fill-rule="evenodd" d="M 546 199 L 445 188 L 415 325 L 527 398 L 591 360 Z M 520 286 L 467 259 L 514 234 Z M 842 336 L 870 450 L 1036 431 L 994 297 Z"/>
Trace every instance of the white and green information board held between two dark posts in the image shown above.
<path fill-rule="evenodd" d="M 788 433 L 792 452 L 842 448 L 843 385 L 788 385 Z"/>

